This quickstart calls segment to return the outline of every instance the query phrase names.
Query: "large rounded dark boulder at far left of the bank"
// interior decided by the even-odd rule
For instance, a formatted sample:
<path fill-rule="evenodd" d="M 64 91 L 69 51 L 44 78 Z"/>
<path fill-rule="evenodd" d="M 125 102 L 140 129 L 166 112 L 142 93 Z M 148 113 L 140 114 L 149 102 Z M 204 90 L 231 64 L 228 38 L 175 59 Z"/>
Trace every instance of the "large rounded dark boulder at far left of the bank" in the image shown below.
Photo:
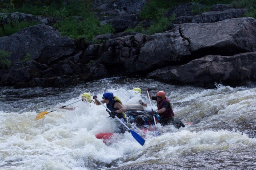
<path fill-rule="evenodd" d="M 18 62 L 29 54 L 31 59 L 48 64 L 76 49 L 73 39 L 62 37 L 48 25 L 34 25 L 10 36 L 0 37 L 0 50 L 10 52 L 9 60 Z"/>

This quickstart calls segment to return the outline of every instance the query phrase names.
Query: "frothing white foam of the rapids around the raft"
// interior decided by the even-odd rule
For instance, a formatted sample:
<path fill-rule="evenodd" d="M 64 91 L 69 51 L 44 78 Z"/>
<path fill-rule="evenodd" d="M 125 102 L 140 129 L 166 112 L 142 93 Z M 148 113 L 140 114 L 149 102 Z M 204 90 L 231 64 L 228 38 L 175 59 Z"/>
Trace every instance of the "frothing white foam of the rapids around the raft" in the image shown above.
<path fill-rule="evenodd" d="M 112 87 L 108 79 L 102 81 L 109 83 L 109 88 L 104 91 L 113 92 L 123 104 L 138 104 L 140 94 L 125 87 Z M 101 99 L 104 91 L 91 94 Z M 56 104 L 47 111 L 75 102 L 80 97 Z M 198 127 L 216 123 L 219 119 L 227 121 L 241 113 L 250 116 L 256 111 L 255 88 L 220 86 L 194 94 L 175 92 L 168 97 L 171 102 L 177 102 L 174 113 L 186 121 L 200 120 Z M 152 104 L 153 109 L 156 109 L 156 103 Z M 193 127 L 176 129 L 173 126 L 161 127 L 159 124 L 157 128 L 162 135 L 156 137 L 153 131 L 143 136 L 146 139 L 144 146 L 128 132 L 114 134 L 106 145 L 95 135 L 118 130 L 117 123 L 108 117 L 106 109 L 94 104 L 88 106 L 83 102 L 68 107 L 74 106 L 74 111 L 58 109 L 38 121 L 35 111 L 22 114 L 0 111 L 0 167 L 17 170 L 87 170 L 96 165 L 105 167 L 112 162 L 121 166 L 148 160 L 175 160 L 185 154 L 211 150 L 236 152 L 238 148 L 256 148 L 256 139 L 240 132 L 214 129 L 194 131 Z M 151 109 L 149 103 L 147 109 Z"/>

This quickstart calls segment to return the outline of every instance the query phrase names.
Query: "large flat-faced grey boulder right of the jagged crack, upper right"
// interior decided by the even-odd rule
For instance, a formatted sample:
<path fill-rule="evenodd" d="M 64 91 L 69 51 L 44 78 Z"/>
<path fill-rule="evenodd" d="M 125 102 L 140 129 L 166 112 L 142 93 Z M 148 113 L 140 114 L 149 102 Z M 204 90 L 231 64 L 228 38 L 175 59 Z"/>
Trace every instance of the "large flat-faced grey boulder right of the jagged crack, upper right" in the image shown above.
<path fill-rule="evenodd" d="M 189 42 L 192 54 L 234 55 L 256 51 L 256 20 L 234 18 L 215 23 L 179 25 L 181 36 Z"/>

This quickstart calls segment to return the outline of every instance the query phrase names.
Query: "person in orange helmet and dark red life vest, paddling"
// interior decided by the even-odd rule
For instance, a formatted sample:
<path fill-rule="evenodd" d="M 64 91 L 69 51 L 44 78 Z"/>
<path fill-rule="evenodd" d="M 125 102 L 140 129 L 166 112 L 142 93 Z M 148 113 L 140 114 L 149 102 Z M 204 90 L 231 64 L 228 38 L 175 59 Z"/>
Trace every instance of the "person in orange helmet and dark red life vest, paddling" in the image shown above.
<path fill-rule="evenodd" d="M 146 88 L 146 91 L 148 91 L 150 99 L 156 100 L 157 111 L 153 111 L 153 114 L 157 113 L 160 115 L 161 125 L 175 125 L 178 129 L 180 128 L 180 126 L 185 127 L 185 125 L 181 121 L 181 125 L 179 127 L 176 125 L 177 123 L 174 121 L 172 105 L 168 98 L 166 98 L 166 94 L 164 91 L 157 92 L 156 96 L 152 96 L 148 88 Z"/>

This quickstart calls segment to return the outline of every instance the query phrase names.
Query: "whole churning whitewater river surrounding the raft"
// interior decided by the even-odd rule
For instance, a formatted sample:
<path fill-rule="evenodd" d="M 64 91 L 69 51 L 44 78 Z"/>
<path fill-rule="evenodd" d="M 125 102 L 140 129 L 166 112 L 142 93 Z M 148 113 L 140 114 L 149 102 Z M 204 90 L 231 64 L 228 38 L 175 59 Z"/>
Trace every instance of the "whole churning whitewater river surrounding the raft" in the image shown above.
<path fill-rule="evenodd" d="M 37 113 L 75 102 L 82 93 L 102 98 L 112 91 L 123 104 L 138 103 L 135 87 L 166 91 L 176 116 L 194 125 L 158 124 L 161 135 L 143 135 L 144 146 L 128 132 L 106 145 L 95 135 L 117 125 L 103 106 L 78 102 L 75 111 L 58 109 L 36 120 Z M 72 88 L 0 88 L 0 170 L 254 170 L 255 126 L 256 84 L 207 89 L 108 78 Z"/>

